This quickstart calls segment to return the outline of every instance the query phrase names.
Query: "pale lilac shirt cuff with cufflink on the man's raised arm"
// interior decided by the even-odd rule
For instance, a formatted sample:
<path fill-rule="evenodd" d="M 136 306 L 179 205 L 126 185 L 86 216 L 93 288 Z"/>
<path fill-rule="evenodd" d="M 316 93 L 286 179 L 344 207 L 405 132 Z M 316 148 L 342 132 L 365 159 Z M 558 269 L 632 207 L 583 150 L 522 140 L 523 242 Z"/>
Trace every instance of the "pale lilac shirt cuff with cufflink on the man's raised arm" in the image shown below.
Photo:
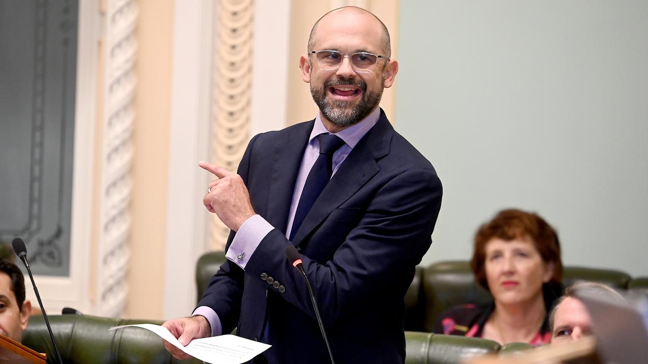
<path fill-rule="evenodd" d="M 249 258 L 272 229 L 274 227 L 260 215 L 251 216 L 238 229 L 225 257 L 245 270 Z"/>

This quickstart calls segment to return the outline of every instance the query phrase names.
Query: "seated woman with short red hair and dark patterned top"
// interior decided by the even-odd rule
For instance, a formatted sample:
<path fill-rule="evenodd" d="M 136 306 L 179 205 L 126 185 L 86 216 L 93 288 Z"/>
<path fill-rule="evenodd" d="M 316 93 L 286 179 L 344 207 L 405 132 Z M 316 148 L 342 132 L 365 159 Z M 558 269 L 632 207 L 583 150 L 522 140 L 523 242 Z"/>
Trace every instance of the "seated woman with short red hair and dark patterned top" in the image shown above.
<path fill-rule="evenodd" d="M 561 295 L 562 262 L 558 235 L 547 222 L 531 212 L 500 211 L 478 229 L 470 267 L 493 301 L 452 308 L 434 332 L 502 345 L 550 342 L 547 312 Z"/>

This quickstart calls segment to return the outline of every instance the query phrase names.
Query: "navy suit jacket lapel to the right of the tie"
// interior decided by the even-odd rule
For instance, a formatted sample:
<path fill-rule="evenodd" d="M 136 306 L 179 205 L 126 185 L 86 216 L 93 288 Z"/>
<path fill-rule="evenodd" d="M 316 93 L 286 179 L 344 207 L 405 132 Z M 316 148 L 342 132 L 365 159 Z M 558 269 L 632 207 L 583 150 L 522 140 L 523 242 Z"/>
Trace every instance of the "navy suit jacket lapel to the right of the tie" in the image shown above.
<path fill-rule="evenodd" d="M 308 211 L 293 239 L 295 245 L 299 245 L 319 223 L 329 216 L 332 210 L 340 207 L 378 173 L 380 168 L 376 160 L 389 153 L 393 131 L 385 113 L 381 110 L 380 120 L 356 144 Z"/>

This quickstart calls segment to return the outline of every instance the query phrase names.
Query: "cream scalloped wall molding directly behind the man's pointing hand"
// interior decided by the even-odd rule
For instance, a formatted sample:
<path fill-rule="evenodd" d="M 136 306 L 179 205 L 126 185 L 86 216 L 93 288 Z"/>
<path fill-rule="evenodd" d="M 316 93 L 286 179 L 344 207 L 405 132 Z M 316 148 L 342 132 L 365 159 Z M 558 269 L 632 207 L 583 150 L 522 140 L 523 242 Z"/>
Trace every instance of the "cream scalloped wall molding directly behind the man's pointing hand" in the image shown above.
<path fill-rule="evenodd" d="M 220 0 L 214 6 L 211 160 L 237 170 L 249 140 L 253 0 Z M 229 229 L 211 216 L 210 247 L 224 249 Z"/>

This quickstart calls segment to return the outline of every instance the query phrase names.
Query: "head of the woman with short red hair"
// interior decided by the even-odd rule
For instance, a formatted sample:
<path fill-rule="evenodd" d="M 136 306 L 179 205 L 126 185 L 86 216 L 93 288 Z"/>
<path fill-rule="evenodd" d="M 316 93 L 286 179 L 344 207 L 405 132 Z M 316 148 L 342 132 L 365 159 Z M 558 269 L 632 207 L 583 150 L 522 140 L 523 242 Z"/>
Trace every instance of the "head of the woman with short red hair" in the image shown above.
<path fill-rule="evenodd" d="M 502 210 L 478 229 L 470 267 L 496 304 L 531 302 L 561 286 L 558 235 L 537 214 Z"/>

